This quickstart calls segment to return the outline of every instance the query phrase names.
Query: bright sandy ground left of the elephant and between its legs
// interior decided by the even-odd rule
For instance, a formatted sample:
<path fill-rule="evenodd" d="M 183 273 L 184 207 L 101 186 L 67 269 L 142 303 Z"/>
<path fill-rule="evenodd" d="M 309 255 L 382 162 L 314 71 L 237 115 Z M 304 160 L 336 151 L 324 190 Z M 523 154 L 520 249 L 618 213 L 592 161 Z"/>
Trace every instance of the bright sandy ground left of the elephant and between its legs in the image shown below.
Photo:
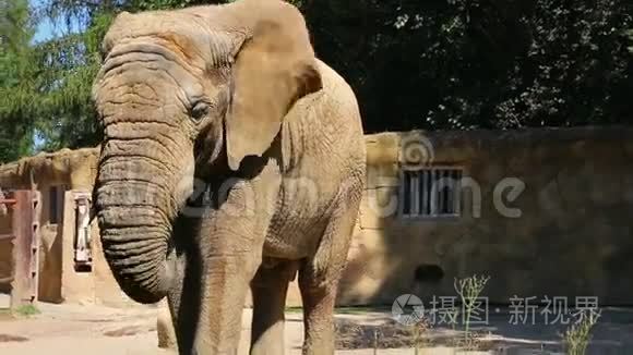
<path fill-rule="evenodd" d="M 0 336 L 4 334 L 16 338 L 5 342 L 0 340 L 0 354 L 174 354 L 157 347 L 156 309 L 112 309 L 48 304 L 40 304 L 39 308 L 41 314 L 28 319 L 0 319 Z M 248 354 L 250 319 L 250 309 L 244 309 L 240 355 Z M 287 354 L 300 354 L 302 331 L 301 316 L 295 313 L 288 314 Z M 23 338 L 23 341 L 19 338 Z M 341 352 L 341 354 L 347 353 Z M 365 352 L 349 354 L 362 353 Z M 384 354 L 390 354 L 390 352 Z"/>

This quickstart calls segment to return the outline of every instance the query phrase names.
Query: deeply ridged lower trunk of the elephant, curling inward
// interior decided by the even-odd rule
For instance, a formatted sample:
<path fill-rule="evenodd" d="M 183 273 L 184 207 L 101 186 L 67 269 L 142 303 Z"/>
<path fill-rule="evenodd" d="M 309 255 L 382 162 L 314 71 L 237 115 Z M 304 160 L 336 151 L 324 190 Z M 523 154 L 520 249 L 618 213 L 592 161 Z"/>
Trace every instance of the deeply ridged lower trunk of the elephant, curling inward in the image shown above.
<path fill-rule="evenodd" d="M 96 210 L 101 244 L 123 292 L 135 302 L 156 303 L 167 295 L 174 272 L 167 262 L 171 232 L 165 211 L 168 193 L 156 183 L 160 181 L 157 175 L 133 173 L 152 171 L 148 163 L 124 158 L 99 163 Z"/>

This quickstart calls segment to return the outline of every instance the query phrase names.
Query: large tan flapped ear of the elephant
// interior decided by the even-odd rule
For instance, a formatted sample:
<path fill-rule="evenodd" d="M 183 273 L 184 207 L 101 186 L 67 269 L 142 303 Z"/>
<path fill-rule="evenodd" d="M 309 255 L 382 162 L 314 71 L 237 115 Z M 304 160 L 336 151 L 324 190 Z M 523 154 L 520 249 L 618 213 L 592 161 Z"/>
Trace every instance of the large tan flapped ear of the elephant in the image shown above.
<path fill-rule="evenodd" d="M 322 87 L 299 11 L 280 1 L 261 1 L 256 7 L 250 9 L 251 16 L 258 17 L 252 35 L 242 42 L 232 68 L 225 124 L 228 164 L 234 171 L 247 156 L 262 156 L 292 105 Z"/>

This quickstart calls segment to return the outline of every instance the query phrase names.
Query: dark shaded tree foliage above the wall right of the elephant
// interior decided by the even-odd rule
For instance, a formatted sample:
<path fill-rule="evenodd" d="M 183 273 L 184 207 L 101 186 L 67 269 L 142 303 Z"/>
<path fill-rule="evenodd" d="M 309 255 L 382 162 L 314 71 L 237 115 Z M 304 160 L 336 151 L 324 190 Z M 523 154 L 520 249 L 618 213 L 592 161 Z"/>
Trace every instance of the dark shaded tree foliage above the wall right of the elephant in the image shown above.
<path fill-rule="evenodd" d="M 630 123 L 620 0 L 313 1 L 368 131 Z"/>

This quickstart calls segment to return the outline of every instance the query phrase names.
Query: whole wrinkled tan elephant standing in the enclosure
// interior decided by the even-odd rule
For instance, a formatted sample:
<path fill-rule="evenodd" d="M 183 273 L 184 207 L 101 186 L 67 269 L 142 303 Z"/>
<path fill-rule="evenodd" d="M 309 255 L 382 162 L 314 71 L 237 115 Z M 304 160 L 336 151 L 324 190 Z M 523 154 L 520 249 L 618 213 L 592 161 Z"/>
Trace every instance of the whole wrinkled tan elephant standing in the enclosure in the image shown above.
<path fill-rule="evenodd" d="M 282 354 L 298 274 L 304 354 L 334 353 L 333 308 L 366 180 L 358 102 L 280 0 L 121 13 L 93 97 L 108 265 L 167 297 L 180 354 Z"/>

